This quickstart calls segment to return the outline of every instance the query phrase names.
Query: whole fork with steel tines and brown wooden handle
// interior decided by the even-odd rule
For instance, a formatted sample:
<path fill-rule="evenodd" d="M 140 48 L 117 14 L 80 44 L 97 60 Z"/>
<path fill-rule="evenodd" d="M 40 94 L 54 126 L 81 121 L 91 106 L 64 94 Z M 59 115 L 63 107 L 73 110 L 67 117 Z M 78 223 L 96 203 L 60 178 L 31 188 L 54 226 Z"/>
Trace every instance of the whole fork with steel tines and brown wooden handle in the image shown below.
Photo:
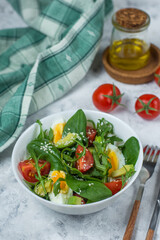
<path fill-rule="evenodd" d="M 136 218 L 137 218 L 138 210 L 140 207 L 145 183 L 152 176 L 152 174 L 154 172 L 159 154 L 160 154 L 160 151 L 157 146 L 155 146 L 155 147 L 146 146 L 144 148 L 143 167 L 139 174 L 140 186 L 139 186 L 139 190 L 138 190 L 138 193 L 136 196 L 136 200 L 133 205 L 132 213 L 131 213 L 123 240 L 130 240 L 132 237 L 132 233 L 133 233 L 134 225 L 136 223 Z"/>

